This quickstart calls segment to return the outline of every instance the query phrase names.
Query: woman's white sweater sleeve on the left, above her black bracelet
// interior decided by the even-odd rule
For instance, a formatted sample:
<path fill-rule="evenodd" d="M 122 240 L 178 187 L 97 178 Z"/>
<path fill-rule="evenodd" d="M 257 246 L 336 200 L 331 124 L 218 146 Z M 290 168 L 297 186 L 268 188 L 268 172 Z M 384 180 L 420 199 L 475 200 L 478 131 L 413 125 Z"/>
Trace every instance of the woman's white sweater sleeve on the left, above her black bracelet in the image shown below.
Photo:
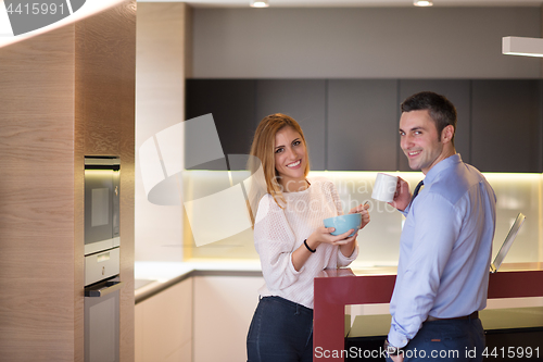
<path fill-rule="evenodd" d="M 295 237 L 283 210 L 270 195 L 264 196 L 258 204 L 254 244 L 268 289 L 281 290 L 299 279 L 304 269 L 296 271 L 292 264 Z"/>

